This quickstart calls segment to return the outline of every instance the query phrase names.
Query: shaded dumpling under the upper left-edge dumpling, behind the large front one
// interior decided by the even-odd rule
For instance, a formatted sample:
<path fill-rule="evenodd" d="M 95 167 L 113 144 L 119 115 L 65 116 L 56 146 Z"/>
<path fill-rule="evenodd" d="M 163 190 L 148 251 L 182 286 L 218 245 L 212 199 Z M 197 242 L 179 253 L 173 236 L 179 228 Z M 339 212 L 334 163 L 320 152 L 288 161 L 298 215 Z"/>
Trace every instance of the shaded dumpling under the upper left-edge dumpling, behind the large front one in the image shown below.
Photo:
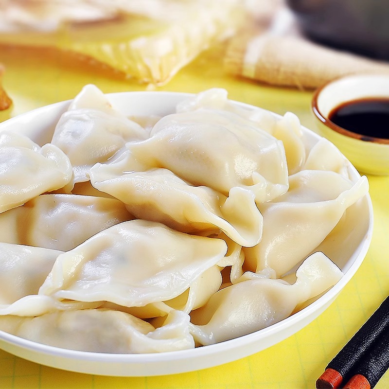
<path fill-rule="evenodd" d="M 117 199 L 40 195 L 0 214 L 0 241 L 68 251 L 97 232 L 131 219 Z"/>

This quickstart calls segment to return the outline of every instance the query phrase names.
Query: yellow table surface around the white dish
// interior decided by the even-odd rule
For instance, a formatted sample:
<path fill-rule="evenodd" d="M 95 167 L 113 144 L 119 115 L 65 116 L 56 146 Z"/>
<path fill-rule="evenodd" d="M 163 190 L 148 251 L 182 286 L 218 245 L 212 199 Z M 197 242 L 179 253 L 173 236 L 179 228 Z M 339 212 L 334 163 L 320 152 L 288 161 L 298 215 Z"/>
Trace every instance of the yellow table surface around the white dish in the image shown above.
<path fill-rule="evenodd" d="M 199 92 L 219 87 L 229 97 L 271 111 L 296 113 L 316 130 L 310 112 L 312 92 L 272 88 L 223 72 L 218 50 L 202 54 L 157 90 Z M 22 112 L 73 98 L 85 84 L 104 92 L 148 87 L 30 50 L 0 47 L 6 66 L 3 84 L 14 106 L 0 112 L 0 121 Z M 61 371 L 20 359 L 0 350 L 0 388 L 147 388 L 147 389 L 302 389 L 314 388 L 326 364 L 389 294 L 389 177 L 369 176 L 374 230 L 369 252 L 336 301 L 297 334 L 247 358 L 222 366 L 157 377 L 107 377 Z M 389 372 L 376 386 L 389 388 Z"/>

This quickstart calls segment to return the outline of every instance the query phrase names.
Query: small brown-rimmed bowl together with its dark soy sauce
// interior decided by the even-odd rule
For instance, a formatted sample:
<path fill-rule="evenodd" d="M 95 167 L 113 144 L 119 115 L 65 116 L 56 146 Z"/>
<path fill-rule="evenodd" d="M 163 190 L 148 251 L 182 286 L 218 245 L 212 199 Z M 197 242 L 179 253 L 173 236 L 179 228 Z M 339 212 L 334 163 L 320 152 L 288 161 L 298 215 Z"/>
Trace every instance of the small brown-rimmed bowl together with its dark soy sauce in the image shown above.
<path fill-rule="evenodd" d="M 312 111 L 320 135 L 361 172 L 389 175 L 389 74 L 358 74 L 318 88 Z"/>

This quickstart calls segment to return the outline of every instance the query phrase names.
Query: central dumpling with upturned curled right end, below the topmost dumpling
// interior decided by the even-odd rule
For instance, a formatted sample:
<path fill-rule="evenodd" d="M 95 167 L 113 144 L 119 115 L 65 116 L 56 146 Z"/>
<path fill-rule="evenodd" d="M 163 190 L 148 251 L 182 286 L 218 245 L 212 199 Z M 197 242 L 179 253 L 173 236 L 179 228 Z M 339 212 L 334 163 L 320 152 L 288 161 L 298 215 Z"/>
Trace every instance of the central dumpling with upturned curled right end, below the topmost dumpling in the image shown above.
<path fill-rule="evenodd" d="M 96 164 L 89 176 L 95 188 L 123 201 L 138 219 L 189 233 L 221 229 L 242 246 L 261 239 L 263 217 L 248 189 L 234 187 L 226 197 L 189 185 L 167 169 L 123 173 L 122 163 Z"/>

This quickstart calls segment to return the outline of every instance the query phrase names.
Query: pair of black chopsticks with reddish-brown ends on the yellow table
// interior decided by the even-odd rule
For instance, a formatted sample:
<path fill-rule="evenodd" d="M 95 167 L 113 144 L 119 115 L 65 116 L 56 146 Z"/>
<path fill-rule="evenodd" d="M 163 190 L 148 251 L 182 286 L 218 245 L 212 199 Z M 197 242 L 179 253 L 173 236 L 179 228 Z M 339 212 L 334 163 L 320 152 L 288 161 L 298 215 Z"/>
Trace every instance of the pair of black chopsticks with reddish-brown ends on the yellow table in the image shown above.
<path fill-rule="evenodd" d="M 317 389 L 373 388 L 389 368 L 389 296 L 326 366 Z"/>

